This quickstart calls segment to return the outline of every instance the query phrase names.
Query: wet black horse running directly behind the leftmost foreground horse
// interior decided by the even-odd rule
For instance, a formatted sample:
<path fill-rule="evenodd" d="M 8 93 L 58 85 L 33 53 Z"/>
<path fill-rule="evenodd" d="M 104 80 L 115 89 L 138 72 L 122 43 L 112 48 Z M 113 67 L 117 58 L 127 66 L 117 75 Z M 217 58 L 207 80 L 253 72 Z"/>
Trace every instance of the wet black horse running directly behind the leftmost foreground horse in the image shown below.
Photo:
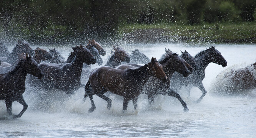
<path fill-rule="evenodd" d="M 44 90 L 63 90 L 66 94 L 73 94 L 74 90 L 84 86 L 81 84 L 81 72 L 83 63 L 95 64 L 96 58 L 83 46 L 76 46 L 75 58 L 71 63 L 52 64 L 40 63 L 38 67 L 43 71 L 45 77 L 36 85 Z M 74 53 L 70 53 L 74 54 Z"/>

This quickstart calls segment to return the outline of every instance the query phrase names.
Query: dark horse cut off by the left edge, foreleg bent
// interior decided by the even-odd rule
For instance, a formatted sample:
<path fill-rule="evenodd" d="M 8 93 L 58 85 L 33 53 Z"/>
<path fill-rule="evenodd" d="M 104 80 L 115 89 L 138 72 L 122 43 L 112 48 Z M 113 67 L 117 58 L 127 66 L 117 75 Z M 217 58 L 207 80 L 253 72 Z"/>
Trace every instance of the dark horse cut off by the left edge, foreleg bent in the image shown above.
<path fill-rule="evenodd" d="M 43 78 L 43 72 L 28 53 L 26 53 L 26 59 L 20 60 L 12 71 L 0 74 L 0 100 L 5 100 L 8 115 L 12 115 L 12 103 L 14 101 L 23 105 L 22 111 L 18 115 L 13 115 L 14 118 L 21 117 L 28 108 L 22 96 L 26 89 L 27 74 L 32 74 L 38 79 Z"/>

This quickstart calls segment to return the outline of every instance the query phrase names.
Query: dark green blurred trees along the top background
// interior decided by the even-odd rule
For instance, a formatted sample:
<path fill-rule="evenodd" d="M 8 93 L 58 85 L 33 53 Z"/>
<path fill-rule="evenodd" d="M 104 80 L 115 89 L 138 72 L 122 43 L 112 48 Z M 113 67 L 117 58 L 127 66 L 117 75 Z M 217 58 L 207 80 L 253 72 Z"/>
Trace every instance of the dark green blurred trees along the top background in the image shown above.
<path fill-rule="evenodd" d="M 1 35 L 61 42 L 106 37 L 126 24 L 256 20 L 255 0 L 2 0 Z"/>

